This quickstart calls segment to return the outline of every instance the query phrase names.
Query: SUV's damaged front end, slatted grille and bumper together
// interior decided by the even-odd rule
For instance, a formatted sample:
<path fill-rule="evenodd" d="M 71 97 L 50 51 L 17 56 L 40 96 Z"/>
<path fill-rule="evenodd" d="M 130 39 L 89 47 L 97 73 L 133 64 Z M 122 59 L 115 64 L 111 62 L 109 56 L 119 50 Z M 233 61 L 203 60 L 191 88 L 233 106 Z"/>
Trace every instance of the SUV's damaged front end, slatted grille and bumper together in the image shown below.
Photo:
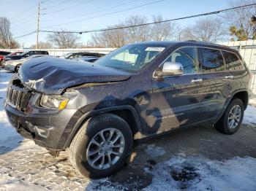
<path fill-rule="evenodd" d="M 71 97 L 70 102 L 75 99 Z M 27 139 L 39 146 L 62 150 L 75 122 L 82 115 L 79 109 L 46 109 L 38 105 L 42 93 L 24 87 L 20 80 L 12 78 L 4 101 L 5 111 L 11 125 Z"/>

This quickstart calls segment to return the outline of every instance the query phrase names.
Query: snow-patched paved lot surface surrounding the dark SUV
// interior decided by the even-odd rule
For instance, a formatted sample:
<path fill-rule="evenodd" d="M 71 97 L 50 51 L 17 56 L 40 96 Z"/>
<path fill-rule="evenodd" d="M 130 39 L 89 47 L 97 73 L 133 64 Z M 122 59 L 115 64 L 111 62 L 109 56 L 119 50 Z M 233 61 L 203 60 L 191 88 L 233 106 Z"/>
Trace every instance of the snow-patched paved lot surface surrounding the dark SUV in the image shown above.
<path fill-rule="evenodd" d="M 67 152 L 51 157 L 10 126 L 4 98 L 12 73 L 0 69 L 0 190 L 255 190 L 256 107 L 233 136 L 195 127 L 135 147 L 132 163 L 107 179 L 81 176 Z M 251 103 L 255 103 L 251 101 Z"/>

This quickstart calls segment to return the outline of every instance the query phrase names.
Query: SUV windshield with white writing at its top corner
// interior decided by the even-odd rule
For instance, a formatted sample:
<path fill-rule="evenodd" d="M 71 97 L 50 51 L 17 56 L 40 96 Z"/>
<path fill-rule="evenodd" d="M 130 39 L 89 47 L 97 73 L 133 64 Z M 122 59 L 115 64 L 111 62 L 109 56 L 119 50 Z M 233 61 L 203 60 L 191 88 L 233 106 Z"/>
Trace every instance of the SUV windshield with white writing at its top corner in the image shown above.
<path fill-rule="evenodd" d="M 129 44 L 95 61 L 95 64 L 136 72 L 157 58 L 166 46 Z"/>

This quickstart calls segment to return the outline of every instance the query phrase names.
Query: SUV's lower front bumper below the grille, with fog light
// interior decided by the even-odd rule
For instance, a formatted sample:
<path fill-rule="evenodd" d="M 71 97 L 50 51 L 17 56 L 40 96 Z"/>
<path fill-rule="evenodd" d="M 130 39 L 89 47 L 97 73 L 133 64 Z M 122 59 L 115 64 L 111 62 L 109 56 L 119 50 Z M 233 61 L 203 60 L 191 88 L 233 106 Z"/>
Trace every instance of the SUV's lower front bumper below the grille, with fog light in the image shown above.
<path fill-rule="evenodd" d="M 76 109 L 64 109 L 57 114 L 26 114 L 4 102 L 11 125 L 26 139 L 32 139 L 41 147 L 64 149 L 64 144 L 81 113 Z"/>

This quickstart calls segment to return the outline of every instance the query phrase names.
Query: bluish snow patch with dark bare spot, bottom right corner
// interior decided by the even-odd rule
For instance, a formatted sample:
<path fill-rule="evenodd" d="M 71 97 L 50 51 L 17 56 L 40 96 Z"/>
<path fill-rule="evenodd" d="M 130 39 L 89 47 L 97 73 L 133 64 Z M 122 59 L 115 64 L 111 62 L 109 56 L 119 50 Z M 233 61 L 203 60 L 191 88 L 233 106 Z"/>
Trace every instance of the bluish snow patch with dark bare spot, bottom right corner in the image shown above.
<path fill-rule="evenodd" d="M 146 169 L 148 171 L 148 169 Z M 171 157 L 154 166 L 151 185 L 144 190 L 255 190 L 256 159 L 234 157 Z"/>

